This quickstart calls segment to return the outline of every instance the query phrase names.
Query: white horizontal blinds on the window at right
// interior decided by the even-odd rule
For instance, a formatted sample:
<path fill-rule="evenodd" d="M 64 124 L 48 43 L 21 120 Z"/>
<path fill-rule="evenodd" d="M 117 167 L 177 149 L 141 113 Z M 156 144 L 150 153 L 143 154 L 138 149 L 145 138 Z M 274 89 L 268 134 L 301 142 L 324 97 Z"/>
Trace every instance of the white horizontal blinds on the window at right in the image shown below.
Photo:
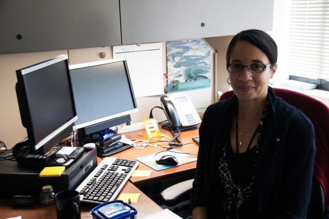
<path fill-rule="evenodd" d="M 329 80 L 328 0 L 291 0 L 287 70 Z"/>

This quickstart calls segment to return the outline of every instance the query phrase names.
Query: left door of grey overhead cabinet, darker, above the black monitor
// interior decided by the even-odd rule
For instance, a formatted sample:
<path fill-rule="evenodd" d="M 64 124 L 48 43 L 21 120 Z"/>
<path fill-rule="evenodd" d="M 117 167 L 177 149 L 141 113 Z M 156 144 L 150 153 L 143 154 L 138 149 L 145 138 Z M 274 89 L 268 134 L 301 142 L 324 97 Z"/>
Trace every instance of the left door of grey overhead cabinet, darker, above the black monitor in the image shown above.
<path fill-rule="evenodd" d="M 1 0 L 0 54 L 121 44 L 118 0 Z"/>

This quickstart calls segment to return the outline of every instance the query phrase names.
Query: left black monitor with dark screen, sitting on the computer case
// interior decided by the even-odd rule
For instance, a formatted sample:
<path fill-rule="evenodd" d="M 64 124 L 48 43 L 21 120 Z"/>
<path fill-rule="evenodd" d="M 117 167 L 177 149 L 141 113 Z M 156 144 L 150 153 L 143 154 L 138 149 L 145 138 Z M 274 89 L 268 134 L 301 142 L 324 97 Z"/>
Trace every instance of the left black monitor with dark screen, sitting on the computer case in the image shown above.
<path fill-rule="evenodd" d="M 29 153 L 45 154 L 77 120 L 67 55 L 16 70 L 16 94 Z M 17 144 L 16 144 L 17 145 Z"/>

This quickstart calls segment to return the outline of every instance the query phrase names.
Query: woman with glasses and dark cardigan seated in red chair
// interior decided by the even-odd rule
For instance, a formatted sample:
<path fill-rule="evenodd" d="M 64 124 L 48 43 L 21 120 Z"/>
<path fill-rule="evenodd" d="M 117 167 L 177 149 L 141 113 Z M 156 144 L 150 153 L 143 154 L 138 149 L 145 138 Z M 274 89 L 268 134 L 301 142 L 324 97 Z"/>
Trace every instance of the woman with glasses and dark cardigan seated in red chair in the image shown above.
<path fill-rule="evenodd" d="M 264 31 L 235 35 L 226 55 L 234 96 L 210 105 L 199 129 L 193 218 L 305 218 L 314 129 L 268 86 L 277 45 Z"/>

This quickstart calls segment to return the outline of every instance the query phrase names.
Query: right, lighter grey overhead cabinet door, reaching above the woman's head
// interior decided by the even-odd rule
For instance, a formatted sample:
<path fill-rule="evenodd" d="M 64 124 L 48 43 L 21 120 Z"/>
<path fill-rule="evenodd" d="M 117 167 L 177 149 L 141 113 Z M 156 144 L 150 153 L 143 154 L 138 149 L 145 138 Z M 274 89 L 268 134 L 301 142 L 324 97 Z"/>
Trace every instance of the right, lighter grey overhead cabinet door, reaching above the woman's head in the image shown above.
<path fill-rule="evenodd" d="M 120 0 L 122 44 L 271 30 L 273 0 Z"/>

